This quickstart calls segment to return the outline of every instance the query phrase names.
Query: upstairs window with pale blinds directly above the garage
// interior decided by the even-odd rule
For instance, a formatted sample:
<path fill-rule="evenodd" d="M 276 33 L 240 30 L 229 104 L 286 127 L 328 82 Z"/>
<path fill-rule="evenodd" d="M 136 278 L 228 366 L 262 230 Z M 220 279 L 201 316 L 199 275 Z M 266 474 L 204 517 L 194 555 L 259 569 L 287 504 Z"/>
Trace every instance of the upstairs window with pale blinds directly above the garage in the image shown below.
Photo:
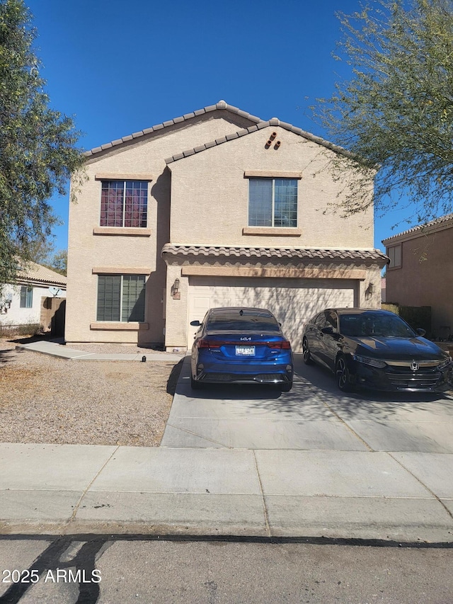
<path fill-rule="evenodd" d="M 250 178 L 249 227 L 297 227 L 297 178 Z"/>

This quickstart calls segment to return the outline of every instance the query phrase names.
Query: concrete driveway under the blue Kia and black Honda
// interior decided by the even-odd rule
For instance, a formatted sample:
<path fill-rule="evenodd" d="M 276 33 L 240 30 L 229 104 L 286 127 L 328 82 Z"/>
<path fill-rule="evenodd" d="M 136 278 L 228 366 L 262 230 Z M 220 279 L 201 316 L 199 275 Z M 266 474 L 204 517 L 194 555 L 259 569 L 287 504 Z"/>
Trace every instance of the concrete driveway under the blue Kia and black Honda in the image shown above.
<path fill-rule="evenodd" d="M 194 392 L 189 371 L 187 357 L 162 447 L 453 453 L 451 394 L 343 394 L 302 355 L 288 393 L 253 385 Z"/>

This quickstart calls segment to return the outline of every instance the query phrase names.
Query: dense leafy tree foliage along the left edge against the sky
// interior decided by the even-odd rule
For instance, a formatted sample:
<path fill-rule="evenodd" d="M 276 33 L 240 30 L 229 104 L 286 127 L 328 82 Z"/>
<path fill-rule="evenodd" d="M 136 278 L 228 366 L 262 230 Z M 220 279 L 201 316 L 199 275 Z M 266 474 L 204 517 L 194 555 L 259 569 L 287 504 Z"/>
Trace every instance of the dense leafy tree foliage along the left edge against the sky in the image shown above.
<path fill-rule="evenodd" d="M 0 287 L 47 241 L 49 200 L 84 163 L 73 121 L 49 106 L 35 37 L 23 1 L 0 0 Z"/>

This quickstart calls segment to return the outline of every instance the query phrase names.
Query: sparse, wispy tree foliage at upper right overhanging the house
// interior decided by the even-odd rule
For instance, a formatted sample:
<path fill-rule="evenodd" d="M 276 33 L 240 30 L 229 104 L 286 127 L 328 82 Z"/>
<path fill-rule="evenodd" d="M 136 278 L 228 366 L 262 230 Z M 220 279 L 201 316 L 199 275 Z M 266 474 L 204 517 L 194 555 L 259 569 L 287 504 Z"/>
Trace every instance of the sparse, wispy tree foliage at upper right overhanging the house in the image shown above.
<path fill-rule="evenodd" d="M 403 200 L 411 205 L 409 223 L 452 211 L 452 0 L 374 0 L 338 18 L 336 58 L 350 64 L 352 76 L 316 113 L 350 152 L 333 162 L 336 176 L 345 168 L 357 176 L 343 213 L 369 205 L 365 185 L 375 170 L 379 214 Z"/>

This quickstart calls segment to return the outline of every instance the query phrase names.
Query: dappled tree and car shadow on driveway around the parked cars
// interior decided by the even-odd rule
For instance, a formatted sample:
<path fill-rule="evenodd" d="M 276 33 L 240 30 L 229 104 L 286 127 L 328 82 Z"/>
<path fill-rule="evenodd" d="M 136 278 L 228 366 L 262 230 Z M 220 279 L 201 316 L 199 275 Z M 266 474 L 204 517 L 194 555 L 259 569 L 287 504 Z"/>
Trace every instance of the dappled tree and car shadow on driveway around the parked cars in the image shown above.
<path fill-rule="evenodd" d="M 174 384 L 171 394 L 179 394 L 185 404 L 206 404 L 241 409 L 243 416 L 256 413 L 271 413 L 286 418 L 325 420 L 340 416 L 345 420 L 369 418 L 386 421 L 393 416 L 428 412 L 433 421 L 440 416 L 453 417 L 452 394 L 436 393 L 386 393 L 361 390 L 352 393 L 340 392 L 333 373 L 319 365 L 304 365 L 302 355 L 294 355 L 294 385 L 291 392 L 259 384 L 212 384 L 197 391 L 190 387 L 190 359 L 181 360 L 173 368 L 168 386 L 173 384 L 176 373 L 181 377 Z"/>

